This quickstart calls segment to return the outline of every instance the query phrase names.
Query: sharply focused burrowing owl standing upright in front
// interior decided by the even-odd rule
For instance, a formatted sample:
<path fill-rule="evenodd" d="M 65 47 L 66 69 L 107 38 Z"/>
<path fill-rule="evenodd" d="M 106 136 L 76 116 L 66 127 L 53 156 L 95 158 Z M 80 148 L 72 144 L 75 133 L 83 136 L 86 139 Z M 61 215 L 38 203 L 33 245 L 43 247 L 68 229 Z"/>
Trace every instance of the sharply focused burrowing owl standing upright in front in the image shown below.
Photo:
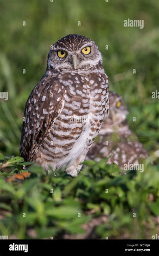
<path fill-rule="evenodd" d="M 25 105 L 20 156 L 76 176 L 108 108 L 108 76 L 95 42 L 61 38 Z"/>

